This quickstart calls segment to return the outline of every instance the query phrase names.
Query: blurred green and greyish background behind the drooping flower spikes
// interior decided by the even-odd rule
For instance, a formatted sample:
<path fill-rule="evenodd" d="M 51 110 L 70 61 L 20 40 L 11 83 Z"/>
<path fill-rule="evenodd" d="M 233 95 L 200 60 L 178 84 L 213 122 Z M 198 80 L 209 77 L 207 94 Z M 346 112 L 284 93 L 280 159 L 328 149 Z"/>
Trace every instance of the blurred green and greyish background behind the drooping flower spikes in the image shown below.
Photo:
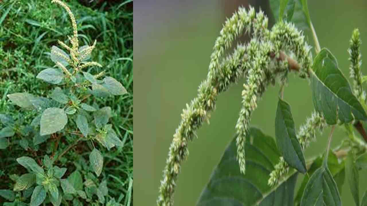
<path fill-rule="evenodd" d="M 135 2 L 135 96 L 134 96 L 134 198 L 135 205 L 155 205 L 162 171 L 166 163 L 172 135 L 180 121 L 185 104 L 197 95 L 197 87 L 206 78 L 215 38 L 226 17 L 247 1 L 176 1 Z M 256 1 L 266 11 L 268 2 Z M 253 4 L 254 5 L 254 4 Z M 352 30 L 360 29 L 367 42 L 367 1 L 309 1 L 310 16 L 322 47 L 327 47 L 338 59 L 339 67 L 349 76 L 347 49 Z M 271 24 L 270 24 L 271 25 Z M 309 43 L 313 45 L 312 38 Z M 362 54 L 367 47 L 363 44 Z M 362 65 L 364 74 L 366 68 Z M 189 158 L 183 162 L 177 181 L 175 205 L 195 205 L 207 184 L 213 168 L 219 162 L 235 133 L 235 123 L 241 108 L 243 80 L 218 97 L 217 110 L 210 125 L 198 132 L 198 139 L 189 144 Z M 266 134 L 274 136 L 274 119 L 279 85 L 270 86 L 251 119 Z M 291 104 L 296 128 L 313 111 L 308 80 L 291 74 L 285 89 L 285 99 Z M 306 150 L 306 157 L 326 148 L 330 128 L 317 136 L 317 142 Z M 137 138 L 136 138 L 137 137 Z M 345 133 L 338 128 L 332 146 L 340 143 Z M 360 172 L 360 197 L 367 189 L 366 171 Z M 303 178 L 299 175 L 299 180 Z M 298 181 L 299 185 L 299 181 Z M 342 190 L 344 205 L 354 205 L 348 181 Z"/>

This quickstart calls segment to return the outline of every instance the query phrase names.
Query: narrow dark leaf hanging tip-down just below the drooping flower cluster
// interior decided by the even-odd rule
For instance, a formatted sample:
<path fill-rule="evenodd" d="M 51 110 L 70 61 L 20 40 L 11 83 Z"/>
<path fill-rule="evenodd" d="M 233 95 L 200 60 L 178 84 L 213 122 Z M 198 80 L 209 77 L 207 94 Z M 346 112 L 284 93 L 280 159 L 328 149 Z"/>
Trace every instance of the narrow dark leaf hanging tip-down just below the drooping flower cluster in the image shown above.
<path fill-rule="evenodd" d="M 305 157 L 296 136 L 291 107 L 280 98 L 275 117 L 275 136 L 284 160 L 299 172 L 305 173 Z"/>

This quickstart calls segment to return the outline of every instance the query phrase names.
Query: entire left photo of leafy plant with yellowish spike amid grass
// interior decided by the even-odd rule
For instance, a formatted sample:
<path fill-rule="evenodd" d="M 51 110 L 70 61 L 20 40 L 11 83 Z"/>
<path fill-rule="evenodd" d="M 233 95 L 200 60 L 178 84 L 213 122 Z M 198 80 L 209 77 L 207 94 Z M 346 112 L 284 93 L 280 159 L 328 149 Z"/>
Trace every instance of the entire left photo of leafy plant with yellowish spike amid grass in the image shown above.
<path fill-rule="evenodd" d="M 0 5 L 4 205 L 132 204 L 132 2 L 69 3 Z"/>

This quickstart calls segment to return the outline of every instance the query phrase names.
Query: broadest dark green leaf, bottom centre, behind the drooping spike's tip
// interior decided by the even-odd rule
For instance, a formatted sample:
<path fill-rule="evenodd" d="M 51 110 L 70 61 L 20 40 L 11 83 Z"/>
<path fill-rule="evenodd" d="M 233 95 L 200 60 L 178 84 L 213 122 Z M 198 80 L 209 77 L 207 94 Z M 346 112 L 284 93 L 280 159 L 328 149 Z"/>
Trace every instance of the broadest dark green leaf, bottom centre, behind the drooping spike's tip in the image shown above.
<path fill-rule="evenodd" d="M 201 192 L 198 206 L 219 205 L 293 205 L 297 173 L 290 173 L 276 187 L 269 187 L 270 172 L 279 162 L 275 140 L 259 129 L 251 128 L 246 141 L 246 174 L 241 174 L 236 159 L 236 138 L 226 148 L 210 181 Z"/>

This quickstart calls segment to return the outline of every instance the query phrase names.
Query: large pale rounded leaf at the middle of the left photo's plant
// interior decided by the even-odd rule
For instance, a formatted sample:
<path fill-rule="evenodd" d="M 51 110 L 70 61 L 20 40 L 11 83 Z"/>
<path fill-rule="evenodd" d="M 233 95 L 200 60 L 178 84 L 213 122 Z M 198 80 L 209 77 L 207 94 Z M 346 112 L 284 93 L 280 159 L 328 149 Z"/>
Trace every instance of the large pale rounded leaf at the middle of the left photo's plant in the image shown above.
<path fill-rule="evenodd" d="M 50 135 L 62 130 L 68 123 L 68 116 L 60 108 L 48 108 L 41 117 L 41 135 Z"/>

